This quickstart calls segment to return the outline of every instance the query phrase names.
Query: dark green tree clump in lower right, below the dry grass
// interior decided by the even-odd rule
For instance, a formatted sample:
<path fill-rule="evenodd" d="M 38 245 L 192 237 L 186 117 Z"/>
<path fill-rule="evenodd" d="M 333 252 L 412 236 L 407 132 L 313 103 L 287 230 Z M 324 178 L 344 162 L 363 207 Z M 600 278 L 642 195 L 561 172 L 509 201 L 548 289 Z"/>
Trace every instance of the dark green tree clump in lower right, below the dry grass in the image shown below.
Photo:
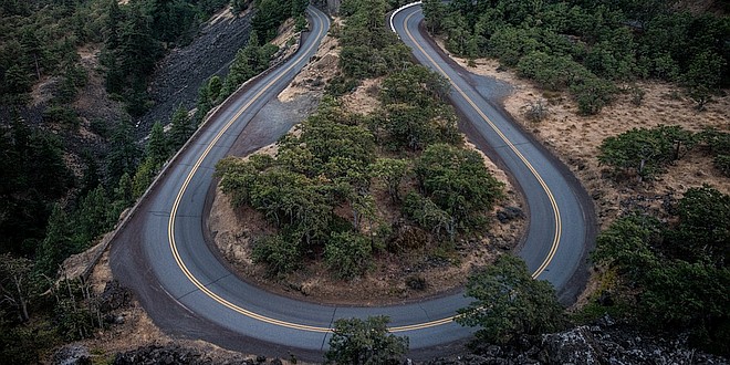
<path fill-rule="evenodd" d="M 632 322 L 671 332 L 727 355 L 730 333 L 730 196 L 690 188 L 675 210 L 676 223 L 633 213 L 614 221 L 597 239 L 594 260 L 617 270 L 615 296 L 628 303 Z"/>

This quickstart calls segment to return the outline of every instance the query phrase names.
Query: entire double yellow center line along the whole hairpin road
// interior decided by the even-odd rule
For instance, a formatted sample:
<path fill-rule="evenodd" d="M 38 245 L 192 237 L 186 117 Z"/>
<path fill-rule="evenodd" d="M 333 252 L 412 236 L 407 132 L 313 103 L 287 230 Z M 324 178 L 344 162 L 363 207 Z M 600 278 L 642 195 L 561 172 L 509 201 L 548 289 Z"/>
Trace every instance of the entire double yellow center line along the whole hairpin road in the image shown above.
<path fill-rule="evenodd" d="M 410 20 L 410 18 L 415 13 L 411 13 L 410 15 L 408 15 L 406 18 L 406 23 Z M 322 19 L 322 15 L 320 15 L 317 12 L 313 12 L 313 15 L 314 15 L 314 18 L 316 18 L 316 21 L 322 22 L 324 24 L 324 20 Z M 323 31 L 324 31 L 324 27 L 321 27 L 320 32 L 317 33 L 316 38 L 322 36 Z M 542 273 L 542 271 L 544 271 L 545 267 L 548 267 L 548 264 L 550 263 L 550 261 L 554 257 L 555 251 L 557 250 L 557 244 L 560 242 L 560 234 L 561 234 L 560 213 L 559 213 L 559 209 L 557 209 L 557 204 L 555 202 L 555 199 L 554 199 L 552 192 L 550 191 L 550 188 L 548 187 L 545 181 L 542 179 L 540 174 L 538 174 L 538 171 L 524 158 L 524 156 L 517 149 L 517 147 L 507 138 L 507 136 L 504 136 L 502 134 L 502 132 L 483 114 L 483 112 L 481 112 L 479 109 L 479 107 L 477 107 L 476 103 L 473 101 L 471 101 L 471 98 L 469 98 L 466 95 L 466 93 L 458 85 L 456 85 L 456 83 L 453 83 L 453 80 L 451 80 L 446 74 L 446 72 L 444 72 L 444 70 L 415 41 L 415 39 L 413 38 L 413 34 L 410 33 L 410 31 L 408 31 L 407 27 L 406 27 L 406 33 L 411 39 L 411 41 L 414 41 L 414 44 L 416 44 L 416 46 L 420 50 L 420 52 L 423 52 L 434 63 L 435 67 L 437 67 L 438 71 L 451 82 L 453 87 L 465 97 L 465 100 L 477 111 L 477 113 L 479 113 L 479 115 L 492 127 L 492 129 L 494 129 L 494 132 L 502 138 L 502 140 L 504 140 L 504 143 L 514 152 L 514 154 L 525 164 L 525 166 L 535 176 L 538 181 L 540 181 L 540 185 L 542 186 L 542 188 L 545 190 L 545 192 L 546 192 L 546 195 L 548 195 L 548 197 L 549 197 L 549 199 L 552 204 L 553 211 L 554 211 L 554 215 L 555 215 L 555 237 L 554 237 L 554 240 L 553 240 L 553 244 L 552 244 L 550 254 L 548 255 L 548 258 L 545 258 L 545 260 L 541 264 L 541 267 L 532 274 L 533 278 L 536 278 L 538 275 L 540 275 L 540 273 Z M 312 326 L 312 325 L 305 325 L 305 324 L 299 324 L 299 323 L 292 323 L 292 322 L 286 322 L 286 321 L 272 319 L 272 317 L 269 317 L 269 316 L 265 316 L 265 315 L 261 315 L 261 314 L 251 312 L 251 311 L 249 311 L 247 309 L 243 309 L 239 305 L 236 305 L 236 304 L 231 303 L 230 301 L 226 300 L 225 298 L 218 295 L 217 293 L 215 293 L 210 289 L 206 288 L 206 285 L 204 283 L 201 283 L 192 274 L 192 272 L 190 272 L 190 270 L 188 269 L 188 267 L 186 265 L 186 263 L 182 261 L 182 259 L 180 257 L 180 253 L 179 253 L 178 248 L 177 248 L 177 242 L 175 240 L 175 220 L 177 218 L 177 210 L 180 206 L 180 201 L 182 200 L 182 196 L 185 195 L 188 186 L 190 185 L 190 181 L 192 180 L 192 177 L 198 171 L 198 169 L 200 168 L 200 165 L 206 159 L 206 157 L 208 156 L 210 150 L 218 143 L 218 140 L 223 136 L 223 134 L 230 128 L 230 126 L 236 122 L 236 119 L 238 119 L 249 107 L 251 107 L 251 105 L 259 97 L 261 97 L 261 95 L 263 95 L 263 93 L 265 93 L 273 84 L 275 84 L 281 77 L 283 77 L 284 74 L 286 74 L 289 71 L 291 71 L 291 69 L 293 69 L 294 65 L 296 63 L 299 63 L 301 61 L 301 59 L 303 56 L 305 56 L 312 50 L 313 46 L 314 46 L 314 43 L 312 43 L 306 49 L 306 51 L 302 52 L 301 53 L 302 55 L 300 55 L 299 59 L 295 62 L 292 62 L 291 65 L 289 65 L 283 72 L 281 72 L 274 80 L 272 80 L 265 86 L 263 86 L 248 103 L 246 103 L 246 105 L 243 105 L 236 113 L 236 115 L 230 121 L 228 121 L 228 123 L 223 126 L 223 128 L 221 128 L 218 132 L 218 134 L 213 137 L 213 139 L 210 142 L 210 144 L 208 144 L 208 146 L 206 147 L 204 153 L 200 155 L 198 160 L 192 166 L 192 168 L 191 168 L 190 173 L 188 174 L 188 176 L 186 177 L 185 181 L 182 182 L 182 186 L 180 187 L 180 190 L 177 194 L 175 202 L 173 204 L 173 208 L 171 208 L 171 211 L 170 211 L 170 218 L 169 218 L 169 221 L 168 221 L 167 237 L 168 237 L 168 240 L 169 240 L 170 250 L 173 252 L 173 255 L 175 257 L 175 261 L 177 262 L 177 265 L 180 268 L 182 273 L 188 278 L 188 280 L 190 280 L 190 282 L 196 288 L 198 288 L 202 293 L 208 295 L 213 301 L 220 303 L 221 305 L 223 305 L 223 306 L 226 306 L 226 307 L 228 307 L 228 309 L 230 309 L 230 310 L 232 310 L 232 311 L 234 311 L 239 314 L 246 315 L 248 317 L 251 317 L 251 319 L 264 322 L 264 323 L 269 323 L 269 324 L 273 324 L 273 325 L 278 325 L 278 326 L 282 326 L 282 327 L 288 327 L 288 328 L 293 328 L 293 330 L 326 333 L 326 332 L 331 332 L 332 328 L 322 327 L 322 326 Z M 448 324 L 448 323 L 451 323 L 452 321 L 453 321 L 453 316 L 449 316 L 449 317 L 445 317 L 445 319 L 436 320 L 436 321 L 431 321 L 431 322 L 425 322 L 425 323 L 418 323 L 418 324 L 411 324 L 411 325 L 404 325 L 404 326 L 394 326 L 394 327 L 390 327 L 389 330 L 390 330 L 390 332 L 416 331 L 416 330 L 423 330 L 423 328 L 428 328 L 428 327 L 434 327 L 434 326 L 438 326 L 438 325 Z"/>

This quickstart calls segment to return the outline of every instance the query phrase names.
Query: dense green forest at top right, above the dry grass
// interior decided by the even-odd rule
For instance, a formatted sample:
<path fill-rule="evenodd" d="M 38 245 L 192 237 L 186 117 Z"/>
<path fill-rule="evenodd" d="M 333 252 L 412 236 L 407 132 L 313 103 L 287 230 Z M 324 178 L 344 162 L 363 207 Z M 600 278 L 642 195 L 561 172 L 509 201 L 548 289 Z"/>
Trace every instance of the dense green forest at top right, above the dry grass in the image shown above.
<path fill-rule="evenodd" d="M 700 109 L 730 84 L 730 18 L 676 0 L 427 0 L 424 13 L 449 51 L 494 58 L 548 91 L 567 90 L 585 115 L 635 80 L 680 83 Z"/>

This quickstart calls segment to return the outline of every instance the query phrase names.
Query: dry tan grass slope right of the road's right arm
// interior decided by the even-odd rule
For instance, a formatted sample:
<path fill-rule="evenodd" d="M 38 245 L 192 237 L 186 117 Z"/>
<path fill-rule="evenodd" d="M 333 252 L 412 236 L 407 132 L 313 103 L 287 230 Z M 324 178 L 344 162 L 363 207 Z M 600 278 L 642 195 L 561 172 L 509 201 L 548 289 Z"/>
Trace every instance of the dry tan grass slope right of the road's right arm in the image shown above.
<path fill-rule="evenodd" d="M 628 196 L 660 196 L 669 192 L 677 198 L 687 188 L 710 184 L 730 194 L 730 181 L 712 167 L 711 159 L 700 150 L 693 150 L 667 173 L 653 181 L 638 184 L 635 179 L 616 181 L 604 178 L 604 166 L 598 165 L 601 143 L 634 127 L 650 128 L 658 125 L 679 125 L 699 132 L 705 127 L 730 131 L 730 96 L 716 97 L 705 112 L 697 112 L 693 102 L 677 85 L 657 82 L 639 82 L 619 85 L 646 92 L 640 106 L 632 103 L 630 93 L 618 94 L 616 101 L 598 115 L 580 116 L 577 106 L 567 93 L 544 92 L 531 82 L 519 79 L 512 72 L 497 71 L 499 62 L 476 60 L 476 67 L 468 67 L 467 60 L 455 60 L 467 70 L 509 82 L 513 93 L 504 101 L 504 108 L 526 131 L 565 163 L 583 182 L 588 194 L 596 197 L 596 211 L 603 227 L 619 213 L 618 204 Z M 531 103 L 543 100 L 549 113 L 542 122 L 530 122 L 525 116 Z"/>

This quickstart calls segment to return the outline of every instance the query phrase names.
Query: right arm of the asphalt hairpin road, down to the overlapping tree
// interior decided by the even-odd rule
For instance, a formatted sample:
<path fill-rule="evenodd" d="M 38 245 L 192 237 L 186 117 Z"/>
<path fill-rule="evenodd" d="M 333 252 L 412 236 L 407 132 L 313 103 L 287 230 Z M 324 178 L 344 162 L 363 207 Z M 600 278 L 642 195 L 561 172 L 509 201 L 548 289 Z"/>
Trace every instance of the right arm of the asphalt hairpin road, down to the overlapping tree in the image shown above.
<path fill-rule="evenodd" d="M 467 135 L 483 146 L 522 190 L 530 225 L 519 255 L 533 278 L 550 281 L 561 301 L 573 302 L 582 289 L 575 284 L 585 271 L 585 254 L 595 236 L 590 197 L 563 164 L 482 96 L 483 88 L 490 86 L 484 85 L 488 79 L 473 77 L 424 36 L 419 29 L 423 20 L 420 7 L 411 6 L 393 17 L 392 27 L 419 63 L 448 79 L 451 103 L 468 122 L 462 125 Z"/>

